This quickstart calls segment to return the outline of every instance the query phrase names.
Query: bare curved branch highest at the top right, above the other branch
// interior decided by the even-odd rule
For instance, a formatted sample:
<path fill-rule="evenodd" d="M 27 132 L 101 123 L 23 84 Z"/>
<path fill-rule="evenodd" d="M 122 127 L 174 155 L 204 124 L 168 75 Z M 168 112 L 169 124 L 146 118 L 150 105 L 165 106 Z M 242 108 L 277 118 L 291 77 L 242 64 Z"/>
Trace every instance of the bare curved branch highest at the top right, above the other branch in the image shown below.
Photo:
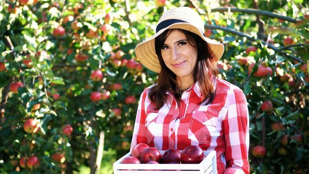
<path fill-rule="evenodd" d="M 287 17 L 280 15 L 278 13 L 266 11 L 266 10 L 260 10 L 260 9 L 253 9 L 253 8 L 245 8 L 245 9 L 240 9 L 240 8 L 213 8 L 211 9 L 211 12 L 225 12 L 225 11 L 232 11 L 232 12 L 243 12 L 243 13 L 249 13 L 249 14 L 258 14 L 258 15 L 263 15 L 263 16 L 268 16 L 272 18 L 278 18 L 282 20 L 286 20 L 289 22 L 296 23 L 297 20 L 292 18 L 292 17 Z"/>

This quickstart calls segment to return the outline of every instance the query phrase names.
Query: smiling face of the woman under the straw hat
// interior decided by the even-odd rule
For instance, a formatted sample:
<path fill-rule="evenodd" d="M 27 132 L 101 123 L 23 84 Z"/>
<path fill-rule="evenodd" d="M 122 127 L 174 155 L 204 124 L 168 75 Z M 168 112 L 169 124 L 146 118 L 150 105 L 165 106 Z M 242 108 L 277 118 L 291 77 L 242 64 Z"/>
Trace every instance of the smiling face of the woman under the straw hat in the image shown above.
<path fill-rule="evenodd" d="M 191 45 L 191 44 L 193 45 Z M 197 61 L 195 42 L 187 40 L 184 33 L 172 30 L 161 48 L 163 61 L 178 79 L 193 79 L 192 74 Z"/>

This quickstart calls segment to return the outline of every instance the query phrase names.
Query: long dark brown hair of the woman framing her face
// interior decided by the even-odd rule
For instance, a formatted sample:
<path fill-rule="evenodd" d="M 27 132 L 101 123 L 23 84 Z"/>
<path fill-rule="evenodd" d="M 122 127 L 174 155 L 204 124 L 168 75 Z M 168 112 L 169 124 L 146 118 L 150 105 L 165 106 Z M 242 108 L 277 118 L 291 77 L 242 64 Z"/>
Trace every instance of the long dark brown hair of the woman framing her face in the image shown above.
<path fill-rule="evenodd" d="M 198 82 L 202 91 L 202 102 L 206 101 L 205 105 L 211 103 L 215 96 L 215 87 L 208 76 L 207 70 L 214 76 L 218 75 L 218 67 L 212 62 L 213 56 L 208 48 L 207 43 L 197 34 L 183 29 L 168 29 L 155 38 L 155 53 L 159 58 L 161 72 L 158 76 L 158 83 L 150 89 L 150 100 L 155 103 L 155 110 L 161 108 L 166 100 L 166 91 L 174 93 L 177 98 L 177 83 L 176 75 L 169 70 L 164 64 L 161 48 L 164 45 L 165 39 L 172 30 L 179 30 L 184 33 L 188 42 L 197 47 L 197 63 L 193 72 L 194 83 Z M 193 43 L 193 44 L 192 44 Z M 202 103 L 201 102 L 201 103 Z"/>

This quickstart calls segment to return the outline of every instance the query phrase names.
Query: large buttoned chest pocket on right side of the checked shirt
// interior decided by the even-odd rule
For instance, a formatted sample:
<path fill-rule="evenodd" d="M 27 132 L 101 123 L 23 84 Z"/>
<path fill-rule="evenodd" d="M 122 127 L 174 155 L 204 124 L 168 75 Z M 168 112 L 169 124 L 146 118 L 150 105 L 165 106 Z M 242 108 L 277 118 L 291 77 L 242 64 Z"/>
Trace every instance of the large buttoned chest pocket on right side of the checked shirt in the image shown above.
<path fill-rule="evenodd" d="M 218 117 L 208 112 L 194 111 L 189 125 L 188 138 L 199 143 L 210 143 L 217 131 Z"/>

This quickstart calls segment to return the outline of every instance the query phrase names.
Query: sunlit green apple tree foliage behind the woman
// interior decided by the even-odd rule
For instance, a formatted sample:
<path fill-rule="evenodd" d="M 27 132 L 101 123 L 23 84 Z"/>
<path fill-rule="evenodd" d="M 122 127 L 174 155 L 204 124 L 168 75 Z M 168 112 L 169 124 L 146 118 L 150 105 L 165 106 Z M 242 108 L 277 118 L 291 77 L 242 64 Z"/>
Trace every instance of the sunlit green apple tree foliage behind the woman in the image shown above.
<path fill-rule="evenodd" d="M 246 94 L 251 172 L 308 171 L 308 0 L 170 0 L 163 6 L 158 3 L 0 2 L 0 62 L 5 66 L 0 71 L 1 173 L 94 173 L 98 170 L 96 165 L 101 165 L 101 173 L 112 173 L 112 163 L 129 151 L 140 93 L 155 83 L 157 76 L 141 66 L 134 48 L 154 34 L 163 11 L 182 5 L 195 8 L 205 20 L 206 34 L 225 44 L 225 54 L 219 62 L 220 78 L 241 87 Z M 279 16 L 212 10 L 219 7 L 256 8 Z M 106 14 L 111 16 L 109 21 Z M 53 34 L 58 26 L 65 28 L 65 35 Z M 287 42 L 287 38 L 293 42 Z M 257 51 L 248 53 L 249 46 L 255 46 Z M 117 58 L 113 53 L 117 53 Z M 80 61 L 78 55 L 86 55 L 87 59 Z M 255 63 L 251 74 L 248 64 L 240 65 L 239 59 Z M 258 65 L 270 67 L 272 73 L 254 76 Z M 94 70 L 103 72 L 101 81 L 90 79 Z M 9 89 L 14 82 L 24 85 L 18 93 Z M 109 97 L 93 102 L 93 91 L 107 92 Z M 53 94 L 60 94 L 60 98 Z M 128 96 L 136 100 L 130 102 L 126 100 Z M 270 112 L 261 111 L 266 100 L 273 103 Z M 38 103 L 40 108 L 33 110 Z M 115 108 L 121 109 L 121 113 L 113 112 Z M 38 120 L 38 133 L 23 130 L 29 118 Z M 274 130 L 274 123 L 283 128 Z M 73 127 L 70 136 L 63 134 L 66 124 Z M 284 135 L 288 137 L 287 145 L 281 143 Z M 263 158 L 252 156 L 251 148 L 256 145 L 266 148 Z M 98 149 L 102 148 L 101 160 Z M 65 154 L 64 163 L 51 158 L 56 152 Z M 39 158 L 40 166 L 21 168 L 20 158 L 33 155 Z"/>

